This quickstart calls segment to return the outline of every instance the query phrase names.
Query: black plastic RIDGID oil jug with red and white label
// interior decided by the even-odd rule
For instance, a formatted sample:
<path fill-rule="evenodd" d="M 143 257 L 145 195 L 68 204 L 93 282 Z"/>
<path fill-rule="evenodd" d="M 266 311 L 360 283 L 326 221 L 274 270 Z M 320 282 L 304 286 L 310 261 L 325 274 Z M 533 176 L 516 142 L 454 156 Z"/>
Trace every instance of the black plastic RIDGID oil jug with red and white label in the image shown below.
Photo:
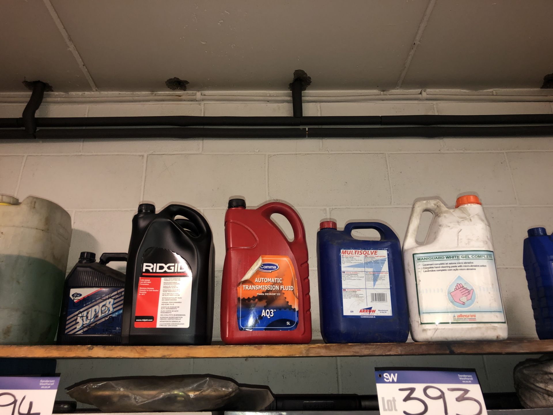
<path fill-rule="evenodd" d="M 156 214 L 154 205 L 139 205 L 127 262 L 123 344 L 210 344 L 214 259 L 211 229 L 199 212 L 169 205 Z"/>

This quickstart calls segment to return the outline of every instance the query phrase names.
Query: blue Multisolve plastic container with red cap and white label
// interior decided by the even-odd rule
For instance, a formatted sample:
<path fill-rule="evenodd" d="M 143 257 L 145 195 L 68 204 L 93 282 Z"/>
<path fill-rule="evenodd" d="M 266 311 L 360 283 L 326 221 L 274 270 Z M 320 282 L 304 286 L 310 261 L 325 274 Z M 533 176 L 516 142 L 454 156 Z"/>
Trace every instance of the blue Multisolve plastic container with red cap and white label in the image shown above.
<path fill-rule="evenodd" d="M 355 229 L 375 229 L 379 241 Z M 322 338 L 326 343 L 403 342 L 409 313 L 398 236 L 380 222 L 353 222 L 343 231 L 321 222 L 317 268 Z"/>

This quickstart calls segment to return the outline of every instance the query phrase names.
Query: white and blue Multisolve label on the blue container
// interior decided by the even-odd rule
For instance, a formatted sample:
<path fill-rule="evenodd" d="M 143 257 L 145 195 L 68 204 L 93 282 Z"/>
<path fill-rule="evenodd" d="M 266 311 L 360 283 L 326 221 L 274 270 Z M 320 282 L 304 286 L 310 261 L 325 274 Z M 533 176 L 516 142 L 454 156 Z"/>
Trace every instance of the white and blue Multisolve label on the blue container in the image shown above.
<path fill-rule="evenodd" d="M 344 317 L 392 315 L 388 250 L 340 251 Z"/>

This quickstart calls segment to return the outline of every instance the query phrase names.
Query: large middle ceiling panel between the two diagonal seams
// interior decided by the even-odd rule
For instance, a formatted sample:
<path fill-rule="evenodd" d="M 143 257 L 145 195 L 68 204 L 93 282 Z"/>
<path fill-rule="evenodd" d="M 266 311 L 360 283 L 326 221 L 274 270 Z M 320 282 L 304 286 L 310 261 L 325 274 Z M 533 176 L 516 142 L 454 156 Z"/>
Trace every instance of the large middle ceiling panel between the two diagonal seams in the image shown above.
<path fill-rule="evenodd" d="M 100 90 L 395 87 L 427 1 L 53 0 Z"/>

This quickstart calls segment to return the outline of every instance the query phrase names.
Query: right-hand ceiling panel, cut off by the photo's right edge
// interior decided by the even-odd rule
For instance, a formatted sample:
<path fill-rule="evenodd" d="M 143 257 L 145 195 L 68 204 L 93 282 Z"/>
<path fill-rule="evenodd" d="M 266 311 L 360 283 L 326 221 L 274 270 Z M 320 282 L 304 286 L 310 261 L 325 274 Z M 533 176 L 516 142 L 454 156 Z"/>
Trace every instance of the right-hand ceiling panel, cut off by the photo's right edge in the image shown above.
<path fill-rule="evenodd" d="M 551 0 L 437 0 L 403 88 L 539 88 L 553 72 Z"/>

